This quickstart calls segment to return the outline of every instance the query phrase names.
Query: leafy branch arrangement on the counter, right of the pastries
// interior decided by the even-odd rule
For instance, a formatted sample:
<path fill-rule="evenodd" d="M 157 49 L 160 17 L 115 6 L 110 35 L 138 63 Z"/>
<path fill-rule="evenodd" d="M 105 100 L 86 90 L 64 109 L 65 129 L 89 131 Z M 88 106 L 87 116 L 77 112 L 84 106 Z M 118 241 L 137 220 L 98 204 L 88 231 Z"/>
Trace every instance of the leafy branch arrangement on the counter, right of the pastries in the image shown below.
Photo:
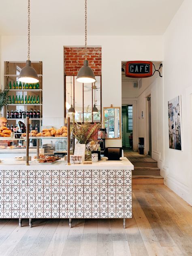
<path fill-rule="evenodd" d="M 98 128 L 100 128 L 101 123 L 90 124 L 88 119 L 85 119 L 84 123 L 78 124 L 73 117 L 73 124 L 71 126 L 71 131 L 73 136 L 80 144 L 87 144 L 90 141 L 96 141 L 98 134 Z"/>

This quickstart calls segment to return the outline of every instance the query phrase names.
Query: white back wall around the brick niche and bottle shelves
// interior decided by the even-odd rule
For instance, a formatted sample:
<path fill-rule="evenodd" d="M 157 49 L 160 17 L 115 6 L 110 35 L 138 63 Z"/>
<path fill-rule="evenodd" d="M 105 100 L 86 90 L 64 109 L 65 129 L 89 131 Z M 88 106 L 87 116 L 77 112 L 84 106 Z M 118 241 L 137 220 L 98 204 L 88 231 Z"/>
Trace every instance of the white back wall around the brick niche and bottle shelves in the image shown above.
<path fill-rule="evenodd" d="M 122 105 L 122 60 L 161 60 L 162 36 L 90 36 L 91 46 L 102 47 L 102 107 Z M 84 36 L 31 36 L 31 60 L 43 61 L 43 124 L 63 124 L 64 117 L 64 60 L 63 46 L 82 46 Z M 1 63 L 25 61 L 26 36 L 2 36 Z M 3 65 L 1 75 L 3 75 Z M 3 77 L 1 76 L 1 83 Z M 109 144 L 110 143 L 110 144 Z M 121 140 L 107 141 L 121 146 Z"/>

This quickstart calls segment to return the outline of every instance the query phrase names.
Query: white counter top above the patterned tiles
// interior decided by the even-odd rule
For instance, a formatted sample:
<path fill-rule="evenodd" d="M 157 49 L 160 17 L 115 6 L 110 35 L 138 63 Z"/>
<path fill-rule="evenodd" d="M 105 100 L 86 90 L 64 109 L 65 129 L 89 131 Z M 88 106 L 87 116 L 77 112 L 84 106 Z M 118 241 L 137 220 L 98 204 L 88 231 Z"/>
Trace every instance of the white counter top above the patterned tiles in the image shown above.
<path fill-rule="evenodd" d="M 134 166 L 127 159 L 123 158 L 123 160 L 119 161 L 98 161 L 93 162 L 92 164 L 71 164 L 67 165 L 67 162 L 64 160 L 58 160 L 53 164 L 50 163 L 39 163 L 36 160 L 30 161 L 30 165 L 26 166 L 24 161 L 17 161 L 11 158 L 1 159 L 0 162 L 0 170 L 133 170 Z"/>

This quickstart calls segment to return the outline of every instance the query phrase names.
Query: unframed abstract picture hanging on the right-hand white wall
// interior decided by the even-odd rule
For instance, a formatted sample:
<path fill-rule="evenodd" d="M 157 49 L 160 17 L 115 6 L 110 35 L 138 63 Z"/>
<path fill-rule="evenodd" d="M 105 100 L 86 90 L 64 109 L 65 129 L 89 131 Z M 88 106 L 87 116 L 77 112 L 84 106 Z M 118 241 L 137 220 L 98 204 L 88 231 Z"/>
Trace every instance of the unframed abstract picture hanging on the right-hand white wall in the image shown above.
<path fill-rule="evenodd" d="M 168 101 L 169 148 L 181 150 L 181 95 Z"/>

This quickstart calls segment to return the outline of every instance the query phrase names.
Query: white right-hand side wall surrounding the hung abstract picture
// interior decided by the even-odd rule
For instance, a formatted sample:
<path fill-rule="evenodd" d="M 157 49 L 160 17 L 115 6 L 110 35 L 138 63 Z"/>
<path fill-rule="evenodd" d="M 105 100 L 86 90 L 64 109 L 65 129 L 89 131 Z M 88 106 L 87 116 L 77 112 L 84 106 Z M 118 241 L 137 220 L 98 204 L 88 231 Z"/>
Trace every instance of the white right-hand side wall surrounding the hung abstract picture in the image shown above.
<path fill-rule="evenodd" d="M 164 34 L 165 184 L 192 205 L 192 1 L 185 0 Z M 169 149 L 168 100 L 181 94 L 182 151 Z"/>

